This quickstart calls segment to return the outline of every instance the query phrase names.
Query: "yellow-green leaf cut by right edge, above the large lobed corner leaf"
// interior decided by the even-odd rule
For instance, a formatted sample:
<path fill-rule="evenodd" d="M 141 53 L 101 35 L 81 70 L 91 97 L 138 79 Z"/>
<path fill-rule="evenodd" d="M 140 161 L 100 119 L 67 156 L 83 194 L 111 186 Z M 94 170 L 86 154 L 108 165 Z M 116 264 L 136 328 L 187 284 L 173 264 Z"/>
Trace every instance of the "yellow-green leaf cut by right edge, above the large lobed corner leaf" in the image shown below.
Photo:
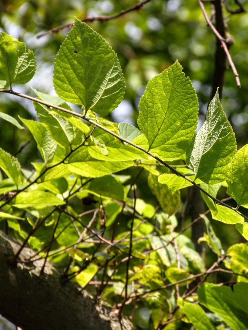
<path fill-rule="evenodd" d="M 244 243 L 234 244 L 227 250 L 230 256 L 230 266 L 234 273 L 245 275 L 248 278 L 248 246 Z"/>

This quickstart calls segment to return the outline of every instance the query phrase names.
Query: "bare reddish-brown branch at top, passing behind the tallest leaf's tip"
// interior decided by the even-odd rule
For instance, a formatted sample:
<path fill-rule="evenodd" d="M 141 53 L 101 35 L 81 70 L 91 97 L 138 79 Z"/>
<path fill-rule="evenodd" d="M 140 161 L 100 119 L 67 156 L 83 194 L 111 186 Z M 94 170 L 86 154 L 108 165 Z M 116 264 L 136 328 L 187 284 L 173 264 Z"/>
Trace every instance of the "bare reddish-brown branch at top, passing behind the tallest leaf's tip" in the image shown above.
<path fill-rule="evenodd" d="M 128 8 L 128 9 L 122 10 L 122 11 L 120 11 L 119 13 L 117 13 L 115 15 L 86 17 L 86 18 L 81 19 L 81 22 L 93 22 L 93 21 L 103 22 L 103 21 L 108 21 L 110 19 L 118 18 L 120 16 L 123 16 L 127 13 L 133 12 L 135 10 L 137 10 L 137 11 L 140 10 L 141 7 L 144 6 L 149 1 L 151 1 L 151 0 L 140 1 L 136 5 Z M 50 34 L 50 33 L 58 33 L 59 31 L 64 30 L 65 28 L 70 28 L 71 29 L 73 24 L 74 23 L 72 22 L 72 23 L 68 23 L 68 24 L 64 24 L 64 25 L 55 27 L 55 28 L 53 28 L 53 29 L 51 29 L 47 32 L 44 32 L 44 33 L 41 33 L 41 34 L 37 35 L 36 38 L 39 39 L 39 38 L 41 38 L 41 37 L 43 37 L 47 34 Z"/>

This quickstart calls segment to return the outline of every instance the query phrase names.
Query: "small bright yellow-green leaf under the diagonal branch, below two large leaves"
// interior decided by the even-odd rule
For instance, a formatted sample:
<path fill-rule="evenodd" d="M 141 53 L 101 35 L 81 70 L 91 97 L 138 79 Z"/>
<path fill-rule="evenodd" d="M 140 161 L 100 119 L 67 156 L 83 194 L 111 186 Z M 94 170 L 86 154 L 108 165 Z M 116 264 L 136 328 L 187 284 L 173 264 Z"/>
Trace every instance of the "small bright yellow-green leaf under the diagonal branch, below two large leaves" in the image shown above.
<path fill-rule="evenodd" d="M 166 184 L 171 193 L 174 193 L 179 189 L 183 189 L 192 185 L 192 183 L 190 183 L 183 177 L 179 177 L 176 174 L 170 173 L 161 174 L 158 177 L 158 182 L 161 184 Z M 201 183 L 201 180 L 196 179 L 195 183 Z"/>

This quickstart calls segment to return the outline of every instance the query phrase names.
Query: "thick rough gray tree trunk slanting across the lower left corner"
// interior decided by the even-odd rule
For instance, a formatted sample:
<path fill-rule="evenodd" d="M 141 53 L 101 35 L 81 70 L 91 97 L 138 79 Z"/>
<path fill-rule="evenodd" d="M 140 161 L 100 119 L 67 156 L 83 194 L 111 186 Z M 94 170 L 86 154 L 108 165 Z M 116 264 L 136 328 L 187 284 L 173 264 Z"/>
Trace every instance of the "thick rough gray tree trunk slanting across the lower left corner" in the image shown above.
<path fill-rule="evenodd" d="M 111 310 L 99 306 L 75 283 L 62 284 L 59 274 L 42 261 L 13 264 L 20 244 L 0 233 L 0 314 L 23 330 L 131 330 Z M 24 248 L 20 260 L 33 255 Z"/>

